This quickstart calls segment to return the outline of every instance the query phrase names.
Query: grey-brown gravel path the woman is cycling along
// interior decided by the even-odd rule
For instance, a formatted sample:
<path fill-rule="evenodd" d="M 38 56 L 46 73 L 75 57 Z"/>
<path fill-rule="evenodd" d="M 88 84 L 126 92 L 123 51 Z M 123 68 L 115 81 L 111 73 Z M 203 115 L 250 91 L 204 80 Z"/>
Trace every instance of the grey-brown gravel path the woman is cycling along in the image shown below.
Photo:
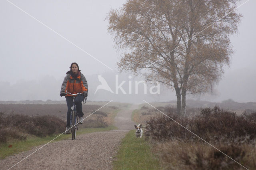
<path fill-rule="evenodd" d="M 133 105 L 117 114 L 114 121 L 119 130 L 82 134 L 76 140 L 50 143 L 12 169 L 112 169 L 113 156 L 117 153 L 121 139 L 136 125 L 131 121 L 131 115 L 137 107 Z M 0 160 L 0 169 L 12 167 L 40 147 Z"/>

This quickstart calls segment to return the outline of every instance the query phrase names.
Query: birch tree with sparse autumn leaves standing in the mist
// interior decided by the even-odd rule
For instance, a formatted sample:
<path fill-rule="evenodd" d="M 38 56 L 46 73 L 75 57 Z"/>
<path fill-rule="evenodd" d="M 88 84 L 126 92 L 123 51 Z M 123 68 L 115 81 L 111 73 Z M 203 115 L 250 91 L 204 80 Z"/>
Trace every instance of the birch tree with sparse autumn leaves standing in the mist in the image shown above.
<path fill-rule="evenodd" d="M 128 0 L 107 16 L 116 47 L 127 51 L 120 71 L 175 89 L 177 112 L 186 113 L 186 95 L 209 91 L 230 65 L 229 36 L 242 17 L 238 2 Z"/>

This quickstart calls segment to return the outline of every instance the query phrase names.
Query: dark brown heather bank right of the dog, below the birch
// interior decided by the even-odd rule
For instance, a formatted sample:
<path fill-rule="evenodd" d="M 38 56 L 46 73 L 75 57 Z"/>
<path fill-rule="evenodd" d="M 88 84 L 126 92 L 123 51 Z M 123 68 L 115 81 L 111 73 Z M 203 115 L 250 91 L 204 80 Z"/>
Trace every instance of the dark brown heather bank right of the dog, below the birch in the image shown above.
<path fill-rule="evenodd" d="M 171 119 L 163 114 L 151 117 L 146 123 L 146 134 L 155 140 L 200 140 L 184 128 L 186 127 L 208 142 L 234 140 L 243 143 L 255 142 L 256 139 L 256 122 L 249 119 L 255 113 L 245 118 L 215 106 L 212 109 L 200 109 L 199 115 L 191 118 L 181 117 L 172 111 L 167 116 Z"/>

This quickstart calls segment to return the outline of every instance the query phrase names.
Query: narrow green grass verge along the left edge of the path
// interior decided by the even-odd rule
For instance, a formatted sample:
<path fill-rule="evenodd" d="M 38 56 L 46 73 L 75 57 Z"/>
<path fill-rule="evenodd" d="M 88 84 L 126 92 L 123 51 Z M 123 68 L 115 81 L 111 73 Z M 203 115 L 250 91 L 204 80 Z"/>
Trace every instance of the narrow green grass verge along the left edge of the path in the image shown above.
<path fill-rule="evenodd" d="M 114 129 L 118 128 L 113 125 L 110 125 L 106 128 L 80 128 L 77 131 L 77 135 Z M 0 159 L 4 159 L 6 156 L 17 154 L 22 151 L 30 150 L 33 146 L 46 144 L 47 142 L 56 138 L 58 135 L 60 134 L 54 134 L 46 137 L 36 137 L 34 135 L 30 135 L 27 137 L 26 140 L 14 140 L 11 142 L 0 144 Z M 58 138 L 54 139 L 52 142 L 57 142 L 63 139 L 71 139 L 71 134 L 62 134 Z"/>

